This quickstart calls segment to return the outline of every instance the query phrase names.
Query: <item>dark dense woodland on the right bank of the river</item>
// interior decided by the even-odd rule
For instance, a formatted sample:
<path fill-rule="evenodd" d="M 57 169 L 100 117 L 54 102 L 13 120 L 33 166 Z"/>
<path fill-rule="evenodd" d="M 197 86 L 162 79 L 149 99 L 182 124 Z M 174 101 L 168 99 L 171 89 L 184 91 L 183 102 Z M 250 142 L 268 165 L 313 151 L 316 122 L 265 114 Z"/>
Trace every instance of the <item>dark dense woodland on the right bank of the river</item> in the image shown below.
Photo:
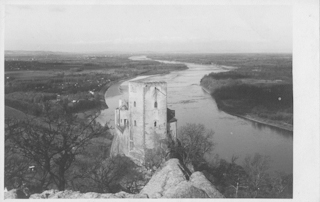
<path fill-rule="evenodd" d="M 281 120 L 292 124 L 293 92 L 289 84 L 268 87 L 248 84 L 226 86 L 212 93 L 218 106 L 226 111 Z M 285 110 L 287 110 L 285 112 Z"/>

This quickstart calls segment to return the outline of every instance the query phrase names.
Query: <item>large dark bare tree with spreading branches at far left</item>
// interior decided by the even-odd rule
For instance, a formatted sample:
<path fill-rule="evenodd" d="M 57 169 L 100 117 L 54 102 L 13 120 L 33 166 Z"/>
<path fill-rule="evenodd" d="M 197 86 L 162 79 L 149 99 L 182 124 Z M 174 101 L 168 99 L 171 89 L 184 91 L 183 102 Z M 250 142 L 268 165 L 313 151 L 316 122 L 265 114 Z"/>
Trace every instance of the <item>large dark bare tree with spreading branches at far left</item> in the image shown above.
<path fill-rule="evenodd" d="M 48 102 L 40 118 L 7 119 L 6 139 L 21 156 L 37 165 L 36 177 L 43 188 L 54 184 L 64 190 L 66 172 L 76 156 L 92 138 L 106 131 L 95 121 L 96 117 L 82 120 L 70 113 L 66 105 Z"/>

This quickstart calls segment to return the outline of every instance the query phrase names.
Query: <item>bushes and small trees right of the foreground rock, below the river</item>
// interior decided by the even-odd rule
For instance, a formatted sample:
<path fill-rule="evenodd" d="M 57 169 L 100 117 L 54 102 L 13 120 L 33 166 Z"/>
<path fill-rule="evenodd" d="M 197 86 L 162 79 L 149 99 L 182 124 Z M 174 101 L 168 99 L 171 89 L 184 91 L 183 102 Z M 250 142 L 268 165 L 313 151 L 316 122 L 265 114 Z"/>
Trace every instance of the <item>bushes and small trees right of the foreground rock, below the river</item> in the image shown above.
<path fill-rule="evenodd" d="M 191 172 L 203 172 L 225 197 L 292 198 L 292 174 L 269 172 L 268 156 L 256 153 L 242 164 L 237 163 L 238 156 L 233 156 L 231 162 L 218 156 L 208 162 L 205 155 L 213 154 L 213 132 L 201 124 L 183 126 L 178 138 L 178 144 L 170 148 L 170 157 L 180 159 Z"/>

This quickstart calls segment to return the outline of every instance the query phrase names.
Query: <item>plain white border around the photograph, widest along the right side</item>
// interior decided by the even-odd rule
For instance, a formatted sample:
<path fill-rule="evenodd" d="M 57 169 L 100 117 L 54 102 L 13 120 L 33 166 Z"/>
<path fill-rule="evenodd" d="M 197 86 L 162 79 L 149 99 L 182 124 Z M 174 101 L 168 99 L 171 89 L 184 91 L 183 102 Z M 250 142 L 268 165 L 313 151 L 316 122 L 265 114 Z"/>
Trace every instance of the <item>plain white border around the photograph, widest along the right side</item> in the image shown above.
<path fill-rule="evenodd" d="M 293 87 L 294 87 L 294 163 L 293 199 L 290 201 L 320 201 L 319 184 L 319 1 L 318 0 L 3 0 L 1 11 L 1 71 L 4 75 L 4 24 L 6 5 L 28 4 L 108 4 L 108 5 L 292 5 L 293 8 Z M 4 76 L 1 78 L 1 120 L 4 138 Z M 0 198 L 3 199 L 4 141 L 1 140 L 1 184 Z M 80 199 L 81 201 L 84 199 Z M 92 199 L 94 200 L 94 199 Z M 90 201 L 92 201 L 90 200 Z M 181 199 L 170 199 L 180 201 Z M 186 199 L 184 201 L 189 201 Z M 200 200 L 200 199 L 199 199 Z M 220 201 L 221 199 L 214 199 Z M 248 199 L 222 199 L 235 201 Z M 261 199 L 250 199 L 250 201 Z M 277 200 L 278 199 L 271 199 Z M 288 200 L 288 199 L 286 199 Z M 38 201 L 38 200 L 37 200 Z M 61 201 L 61 200 L 59 200 Z M 87 201 L 87 200 L 84 200 Z"/>

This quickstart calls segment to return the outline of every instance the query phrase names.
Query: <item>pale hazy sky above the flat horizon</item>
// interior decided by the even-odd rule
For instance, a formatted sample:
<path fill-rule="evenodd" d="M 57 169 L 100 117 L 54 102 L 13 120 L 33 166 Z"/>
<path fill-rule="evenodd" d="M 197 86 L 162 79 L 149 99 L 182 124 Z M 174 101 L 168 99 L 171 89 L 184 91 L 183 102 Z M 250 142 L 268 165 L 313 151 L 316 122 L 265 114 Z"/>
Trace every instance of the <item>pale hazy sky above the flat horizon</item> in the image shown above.
<path fill-rule="evenodd" d="M 6 5 L 5 50 L 291 53 L 283 5 Z"/>

